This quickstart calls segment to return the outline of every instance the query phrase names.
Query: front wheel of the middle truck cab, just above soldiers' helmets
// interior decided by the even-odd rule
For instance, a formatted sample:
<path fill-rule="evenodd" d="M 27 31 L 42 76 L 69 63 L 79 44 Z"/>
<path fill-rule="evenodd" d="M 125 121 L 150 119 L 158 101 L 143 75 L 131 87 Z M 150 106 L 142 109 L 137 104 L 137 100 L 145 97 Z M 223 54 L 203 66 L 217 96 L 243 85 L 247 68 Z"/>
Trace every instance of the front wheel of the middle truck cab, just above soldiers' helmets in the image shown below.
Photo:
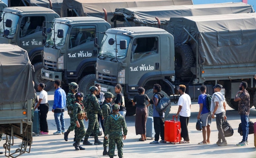
<path fill-rule="evenodd" d="M 89 74 L 84 76 L 78 83 L 78 91 L 83 92 L 86 96 L 90 94 L 89 88 L 94 86 L 94 81 L 96 80 L 95 74 Z"/>

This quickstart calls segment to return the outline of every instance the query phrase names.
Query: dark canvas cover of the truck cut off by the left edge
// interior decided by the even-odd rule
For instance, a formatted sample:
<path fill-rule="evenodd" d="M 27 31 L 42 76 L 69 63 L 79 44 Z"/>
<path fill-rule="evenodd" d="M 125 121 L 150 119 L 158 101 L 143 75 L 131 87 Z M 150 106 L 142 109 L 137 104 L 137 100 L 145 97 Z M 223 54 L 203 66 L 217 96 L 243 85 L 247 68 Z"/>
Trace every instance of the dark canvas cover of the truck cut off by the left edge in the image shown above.
<path fill-rule="evenodd" d="M 24 102 L 34 97 L 31 63 L 26 50 L 17 45 L 0 44 L 1 104 Z"/>

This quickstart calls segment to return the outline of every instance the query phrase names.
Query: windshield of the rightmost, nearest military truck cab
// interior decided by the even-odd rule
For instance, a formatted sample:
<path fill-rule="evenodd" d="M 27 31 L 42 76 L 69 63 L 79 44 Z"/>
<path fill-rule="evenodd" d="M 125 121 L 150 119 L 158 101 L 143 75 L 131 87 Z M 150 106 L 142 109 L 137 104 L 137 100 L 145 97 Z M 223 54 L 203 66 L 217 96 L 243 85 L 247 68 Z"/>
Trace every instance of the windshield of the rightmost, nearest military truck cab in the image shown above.
<path fill-rule="evenodd" d="M 116 39 L 117 37 L 117 39 Z M 108 40 L 110 38 L 113 38 L 115 43 L 113 45 L 108 44 Z M 109 57 L 115 57 L 116 56 L 116 42 L 117 44 L 120 44 L 120 40 L 126 40 L 127 43 L 130 43 L 130 37 L 126 35 L 120 35 L 120 34 L 105 34 L 102 40 L 101 49 L 99 52 L 99 56 L 109 56 Z M 120 49 L 119 45 L 117 45 L 117 57 L 118 58 L 125 58 L 128 50 L 128 45 L 126 49 Z"/>

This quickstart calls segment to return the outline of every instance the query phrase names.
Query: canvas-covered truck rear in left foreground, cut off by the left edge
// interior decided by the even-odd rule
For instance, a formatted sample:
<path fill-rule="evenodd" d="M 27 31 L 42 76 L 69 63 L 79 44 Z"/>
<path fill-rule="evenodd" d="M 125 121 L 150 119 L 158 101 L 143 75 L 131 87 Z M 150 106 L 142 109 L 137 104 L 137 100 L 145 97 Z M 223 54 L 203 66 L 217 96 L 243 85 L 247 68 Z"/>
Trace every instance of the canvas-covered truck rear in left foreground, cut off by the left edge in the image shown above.
<path fill-rule="evenodd" d="M 29 153 L 32 144 L 32 65 L 27 51 L 19 46 L 0 47 L 0 133 L 6 134 L 5 156 L 17 157 Z M 14 137 L 21 139 L 22 145 L 12 153 Z"/>

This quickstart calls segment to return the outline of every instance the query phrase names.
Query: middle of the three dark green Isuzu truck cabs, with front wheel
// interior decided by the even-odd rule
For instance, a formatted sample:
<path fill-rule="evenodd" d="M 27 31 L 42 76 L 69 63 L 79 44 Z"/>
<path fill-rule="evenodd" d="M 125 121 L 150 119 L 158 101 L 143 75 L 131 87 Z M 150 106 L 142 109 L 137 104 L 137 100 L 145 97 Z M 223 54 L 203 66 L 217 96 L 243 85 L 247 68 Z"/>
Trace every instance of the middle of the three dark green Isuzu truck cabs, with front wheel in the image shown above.
<path fill-rule="evenodd" d="M 61 17 L 52 21 L 44 46 L 42 78 L 59 79 L 68 84 L 77 82 L 86 93 L 95 81 L 98 48 L 94 38 L 102 40 L 110 24 L 99 17 Z M 66 91 L 66 86 L 63 87 Z"/>

